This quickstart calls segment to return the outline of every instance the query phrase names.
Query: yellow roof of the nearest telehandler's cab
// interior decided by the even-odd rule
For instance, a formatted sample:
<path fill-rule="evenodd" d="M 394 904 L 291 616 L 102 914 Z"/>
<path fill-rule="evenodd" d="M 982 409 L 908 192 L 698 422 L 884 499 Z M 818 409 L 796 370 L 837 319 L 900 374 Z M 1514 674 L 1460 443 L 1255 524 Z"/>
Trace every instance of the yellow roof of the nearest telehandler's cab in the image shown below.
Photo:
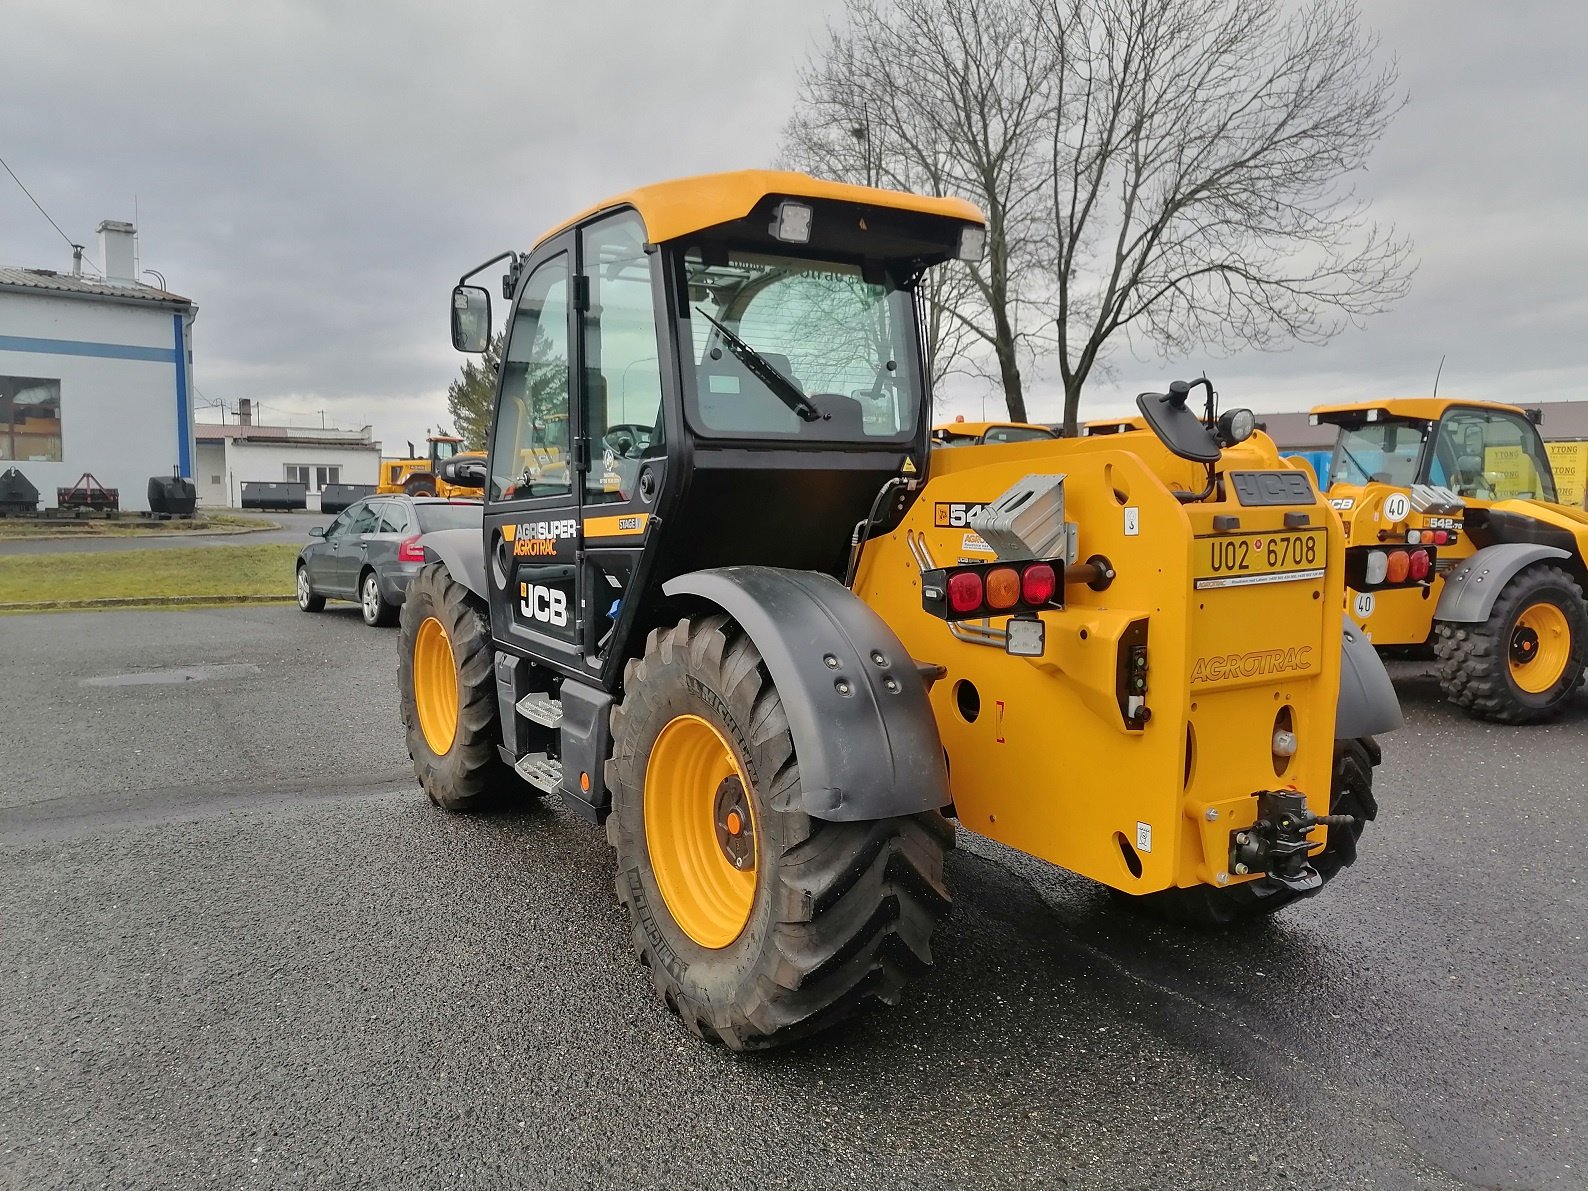
<path fill-rule="evenodd" d="M 985 222 L 977 205 L 964 198 L 932 198 L 919 194 L 905 194 L 904 191 L 881 191 L 872 186 L 829 183 L 805 173 L 781 170 L 737 170 L 734 173 L 703 173 L 694 178 L 675 178 L 669 183 L 638 186 L 596 203 L 572 219 L 565 219 L 540 237 L 535 245 L 538 246 L 557 232 L 583 224 L 602 211 L 613 211 L 619 206 L 632 206 L 638 211 L 640 219 L 645 222 L 646 240 L 653 245 L 661 245 L 705 227 L 743 219 L 769 194 L 788 195 L 791 198 L 829 198 L 846 203 L 867 203 L 897 211 L 962 219 L 967 224 Z"/>

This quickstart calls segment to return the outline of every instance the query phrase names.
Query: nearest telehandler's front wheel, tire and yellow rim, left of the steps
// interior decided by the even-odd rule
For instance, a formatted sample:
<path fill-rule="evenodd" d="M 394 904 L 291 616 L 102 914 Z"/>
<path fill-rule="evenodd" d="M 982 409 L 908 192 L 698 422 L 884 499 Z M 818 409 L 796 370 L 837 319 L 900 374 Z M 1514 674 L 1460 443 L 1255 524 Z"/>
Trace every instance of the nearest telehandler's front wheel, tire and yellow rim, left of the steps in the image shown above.
<path fill-rule="evenodd" d="M 402 721 L 419 784 L 446 810 L 480 810 L 526 786 L 497 754 L 491 619 L 440 562 L 414 575 L 397 651 Z"/>

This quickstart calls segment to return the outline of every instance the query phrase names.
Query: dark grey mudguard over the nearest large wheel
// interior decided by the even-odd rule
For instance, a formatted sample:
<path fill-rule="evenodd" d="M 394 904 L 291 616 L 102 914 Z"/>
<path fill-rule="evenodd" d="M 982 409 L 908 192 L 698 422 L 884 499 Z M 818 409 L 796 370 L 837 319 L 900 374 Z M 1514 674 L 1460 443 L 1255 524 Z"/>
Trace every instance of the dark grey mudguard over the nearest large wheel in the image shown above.
<path fill-rule="evenodd" d="M 948 805 L 926 683 L 892 629 L 848 588 L 807 570 L 723 567 L 680 575 L 662 591 L 710 600 L 761 651 L 794 735 L 807 815 L 854 823 Z"/>

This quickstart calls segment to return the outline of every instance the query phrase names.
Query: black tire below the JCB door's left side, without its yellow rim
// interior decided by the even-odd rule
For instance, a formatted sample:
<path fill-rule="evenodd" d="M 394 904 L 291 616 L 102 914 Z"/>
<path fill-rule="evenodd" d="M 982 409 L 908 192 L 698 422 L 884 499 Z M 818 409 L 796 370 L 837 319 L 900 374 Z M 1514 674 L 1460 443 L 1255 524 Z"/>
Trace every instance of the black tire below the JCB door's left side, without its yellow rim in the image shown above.
<path fill-rule="evenodd" d="M 414 645 L 429 619 L 446 632 L 457 675 L 456 734 L 441 753 L 426 737 L 414 692 Z M 497 754 L 502 727 L 491 661 L 491 618 L 445 564 L 432 562 L 413 576 L 402 605 L 397 659 L 408 756 L 430 802 L 443 810 L 464 811 L 526 797 L 529 786 Z"/>

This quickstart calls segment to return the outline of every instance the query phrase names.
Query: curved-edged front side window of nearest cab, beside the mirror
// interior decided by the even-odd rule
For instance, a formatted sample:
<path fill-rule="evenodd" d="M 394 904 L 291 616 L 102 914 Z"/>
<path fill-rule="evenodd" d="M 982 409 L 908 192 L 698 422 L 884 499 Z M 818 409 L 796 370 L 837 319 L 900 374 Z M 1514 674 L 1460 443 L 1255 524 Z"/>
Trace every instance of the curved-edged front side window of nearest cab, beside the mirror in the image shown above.
<path fill-rule="evenodd" d="M 502 400 L 491 435 L 491 499 L 567 495 L 569 259 L 546 260 L 524 284 L 502 353 Z"/>

